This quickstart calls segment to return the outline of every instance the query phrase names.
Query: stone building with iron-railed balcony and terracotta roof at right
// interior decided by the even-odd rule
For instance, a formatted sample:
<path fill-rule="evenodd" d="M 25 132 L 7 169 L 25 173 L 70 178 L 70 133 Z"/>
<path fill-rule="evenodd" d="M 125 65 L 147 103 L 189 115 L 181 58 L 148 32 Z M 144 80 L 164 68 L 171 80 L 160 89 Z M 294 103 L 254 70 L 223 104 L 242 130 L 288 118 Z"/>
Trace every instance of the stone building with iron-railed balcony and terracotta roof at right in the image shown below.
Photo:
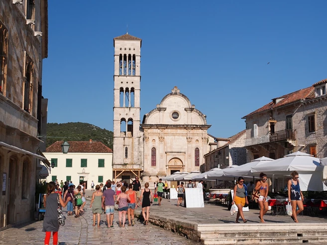
<path fill-rule="evenodd" d="M 301 151 L 327 157 L 327 80 L 277 97 L 243 117 L 247 162 Z"/>

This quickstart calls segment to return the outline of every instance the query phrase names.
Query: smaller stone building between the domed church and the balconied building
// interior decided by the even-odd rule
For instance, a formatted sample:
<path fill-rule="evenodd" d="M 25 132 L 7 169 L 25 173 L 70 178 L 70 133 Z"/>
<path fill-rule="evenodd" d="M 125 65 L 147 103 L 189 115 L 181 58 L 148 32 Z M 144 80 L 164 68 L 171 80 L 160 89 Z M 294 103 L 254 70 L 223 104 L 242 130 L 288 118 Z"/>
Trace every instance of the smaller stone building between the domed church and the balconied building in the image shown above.
<path fill-rule="evenodd" d="M 210 152 L 204 155 L 205 163 L 200 171 L 206 172 L 212 168 L 225 168 L 230 165 L 246 163 L 246 149 L 244 147 L 245 130 L 230 138 L 215 138 L 215 143 L 210 144 Z"/>

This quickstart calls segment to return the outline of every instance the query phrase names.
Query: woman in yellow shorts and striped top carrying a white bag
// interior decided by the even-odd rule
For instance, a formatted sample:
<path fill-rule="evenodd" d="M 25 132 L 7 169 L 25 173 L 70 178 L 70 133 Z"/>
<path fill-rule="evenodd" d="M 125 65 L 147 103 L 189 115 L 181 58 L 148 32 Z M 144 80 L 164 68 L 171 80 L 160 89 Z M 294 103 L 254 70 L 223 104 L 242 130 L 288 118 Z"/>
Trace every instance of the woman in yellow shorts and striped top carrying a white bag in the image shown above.
<path fill-rule="evenodd" d="M 234 201 L 231 204 L 235 204 L 238 208 L 235 223 L 239 223 L 238 222 L 239 216 L 242 218 L 243 222 L 246 223 L 247 220 L 244 219 L 243 207 L 245 203 L 249 204 L 249 202 L 247 201 L 247 191 L 246 191 L 246 185 L 244 184 L 243 177 L 238 177 L 237 184 L 234 186 L 233 200 Z"/>

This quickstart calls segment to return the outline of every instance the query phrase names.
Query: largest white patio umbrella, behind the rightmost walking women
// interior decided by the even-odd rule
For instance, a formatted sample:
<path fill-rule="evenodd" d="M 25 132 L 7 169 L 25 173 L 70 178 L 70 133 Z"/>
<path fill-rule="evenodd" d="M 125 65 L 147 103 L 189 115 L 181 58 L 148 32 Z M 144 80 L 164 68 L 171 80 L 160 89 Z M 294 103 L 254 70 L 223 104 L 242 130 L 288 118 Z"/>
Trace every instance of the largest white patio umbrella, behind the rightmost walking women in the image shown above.
<path fill-rule="evenodd" d="M 251 172 L 256 175 L 264 172 L 274 177 L 298 171 L 302 191 L 323 191 L 327 190 L 327 186 L 322 182 L 323 168 L 320 159 L 310 154 L 295 152 L 274 161 L 258 163 L 251 167 Z"/>

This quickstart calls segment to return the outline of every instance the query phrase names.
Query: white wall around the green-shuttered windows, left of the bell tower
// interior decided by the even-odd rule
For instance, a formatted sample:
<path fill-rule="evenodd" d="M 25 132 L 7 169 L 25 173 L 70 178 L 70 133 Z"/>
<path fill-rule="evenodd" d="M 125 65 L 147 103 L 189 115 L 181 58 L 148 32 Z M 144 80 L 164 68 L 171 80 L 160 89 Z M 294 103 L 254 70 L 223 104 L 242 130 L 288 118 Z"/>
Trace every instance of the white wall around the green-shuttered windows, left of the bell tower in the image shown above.
<path fill-rule="evenodd" d="M 79 183 L 80 176 L 88 181 L 88 189 L 91 188 L 92 180 L 98 182 L 98 176 L 103 176 L 103 183 L 107 179 L 112 179 L 112 153 L 44 153 L 44 156 L 51 163 L 51 159 L 58 159 L 57 167 L 51 168 L 51 173 L 47 177 L 47 182 L 52 180 L 52 176 L 57 176 L 58 182 L 65 182 L 66 176 L 72 176 L 75 185 Z M 72 159 L 72 167 L 66 167 L 66 159 Z M 81 159 L 87 159 L 87 167 L 81 167 Z M 98 167 L 98 160 L 105 160 L 105 167 Z M 83 169 L 85 172 L 83 173 Z"/>

